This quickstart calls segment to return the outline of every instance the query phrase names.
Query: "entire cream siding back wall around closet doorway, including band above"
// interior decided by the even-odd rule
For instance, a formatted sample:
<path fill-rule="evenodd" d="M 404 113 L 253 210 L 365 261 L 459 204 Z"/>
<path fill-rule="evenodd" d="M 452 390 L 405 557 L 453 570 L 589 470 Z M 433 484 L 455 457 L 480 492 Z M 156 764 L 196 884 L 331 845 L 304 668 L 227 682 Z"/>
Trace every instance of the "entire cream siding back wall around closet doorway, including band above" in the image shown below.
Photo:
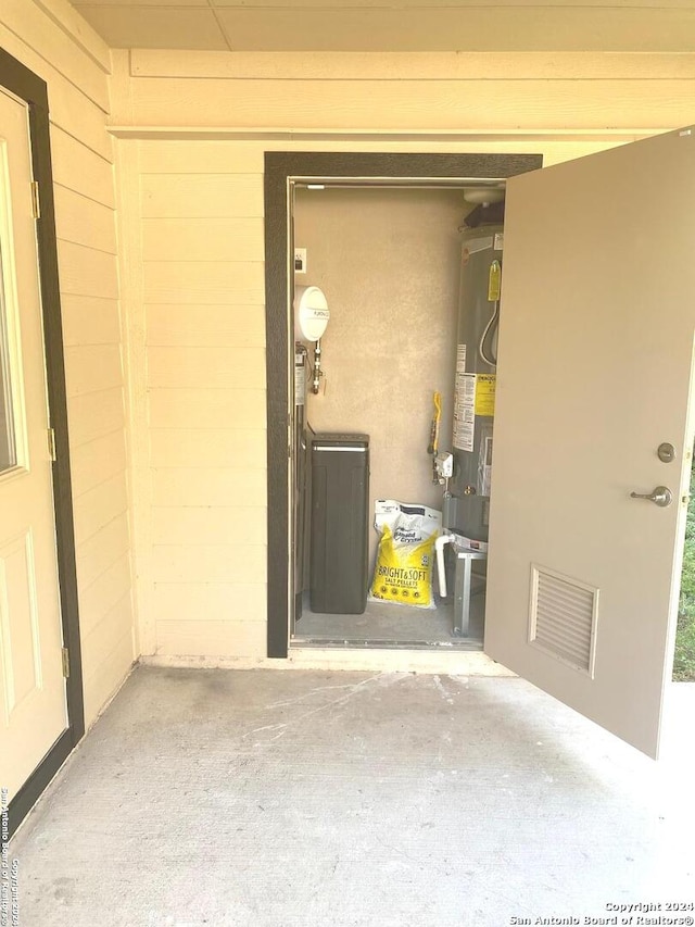
<path fill-rule="evenodd" d="M 264 151 L 551 164 L 694 91 L 694 55 L 114 52 L 143 653 L 265 656 Z"/>

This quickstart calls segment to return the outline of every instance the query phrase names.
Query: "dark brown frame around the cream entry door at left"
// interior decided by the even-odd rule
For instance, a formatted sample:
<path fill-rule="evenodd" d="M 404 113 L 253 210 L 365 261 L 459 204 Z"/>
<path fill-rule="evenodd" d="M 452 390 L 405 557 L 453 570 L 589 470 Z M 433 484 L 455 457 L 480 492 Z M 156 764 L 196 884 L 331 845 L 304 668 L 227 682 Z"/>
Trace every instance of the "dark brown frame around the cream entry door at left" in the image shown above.
<path fill-rule="evenodd" d="M 70 653 L 70 676 L 65 680 L 67 727 L 10 801 L 8 830 L 9 836 L 12 836 L 85 734 L 85 707 L 48 90 L 46 83 L 38 75 L 3 49 L 0 49 L 0 86 L 18 99 L 24 100 L 28 105 L 31 166 L 34 179 L 39 185 L 40 217 L 36 222 L 36 235 L 50 424 L 55 433 L 56 460 L 53 463 L 53 505 L 55 511 L 58 578 L 60 582 L 63 646 L 67 648 Z"/>

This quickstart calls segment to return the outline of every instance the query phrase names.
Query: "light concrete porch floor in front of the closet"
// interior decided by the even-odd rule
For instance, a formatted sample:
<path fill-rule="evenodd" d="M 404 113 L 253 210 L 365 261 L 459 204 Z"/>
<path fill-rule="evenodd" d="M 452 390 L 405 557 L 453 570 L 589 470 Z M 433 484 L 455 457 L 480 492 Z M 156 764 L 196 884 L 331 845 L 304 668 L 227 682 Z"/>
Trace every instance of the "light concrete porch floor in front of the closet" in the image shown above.
<path fill-rule="evenodd" d="M 693 903 L 695 685 L 672 688 L 655 764 L 516 678 L 140 667 L 10 845 L 20 924 L 505 927 Z M 643 916 L 622 923 L 670 923 Z"/>

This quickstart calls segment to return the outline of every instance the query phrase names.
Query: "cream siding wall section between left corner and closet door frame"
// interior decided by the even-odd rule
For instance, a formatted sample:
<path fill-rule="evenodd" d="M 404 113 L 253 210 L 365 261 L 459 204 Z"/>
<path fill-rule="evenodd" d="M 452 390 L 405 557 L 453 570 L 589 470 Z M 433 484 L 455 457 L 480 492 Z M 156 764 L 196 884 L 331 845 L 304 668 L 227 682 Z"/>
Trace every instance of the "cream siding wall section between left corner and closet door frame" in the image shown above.
<path fill-rule="evenodd" d="M 118 143 L 142 650 L 263 655 L 263 152 Z"/>

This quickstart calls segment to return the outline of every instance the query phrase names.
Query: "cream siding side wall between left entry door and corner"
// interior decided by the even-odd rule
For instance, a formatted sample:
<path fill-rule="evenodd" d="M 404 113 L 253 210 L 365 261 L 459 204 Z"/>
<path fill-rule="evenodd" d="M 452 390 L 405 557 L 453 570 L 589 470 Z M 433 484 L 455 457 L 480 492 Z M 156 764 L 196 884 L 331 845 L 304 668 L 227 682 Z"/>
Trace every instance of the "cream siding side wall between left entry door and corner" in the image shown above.
<path fill-rule="evenodd" d="M 111 59 L 67 3 L 43 7 L 51 15 L 28 0 L 3 0 L 0 45 L 48 84 L 89 725 L 136 655 L 113 145 L 105 129 Z"/>

